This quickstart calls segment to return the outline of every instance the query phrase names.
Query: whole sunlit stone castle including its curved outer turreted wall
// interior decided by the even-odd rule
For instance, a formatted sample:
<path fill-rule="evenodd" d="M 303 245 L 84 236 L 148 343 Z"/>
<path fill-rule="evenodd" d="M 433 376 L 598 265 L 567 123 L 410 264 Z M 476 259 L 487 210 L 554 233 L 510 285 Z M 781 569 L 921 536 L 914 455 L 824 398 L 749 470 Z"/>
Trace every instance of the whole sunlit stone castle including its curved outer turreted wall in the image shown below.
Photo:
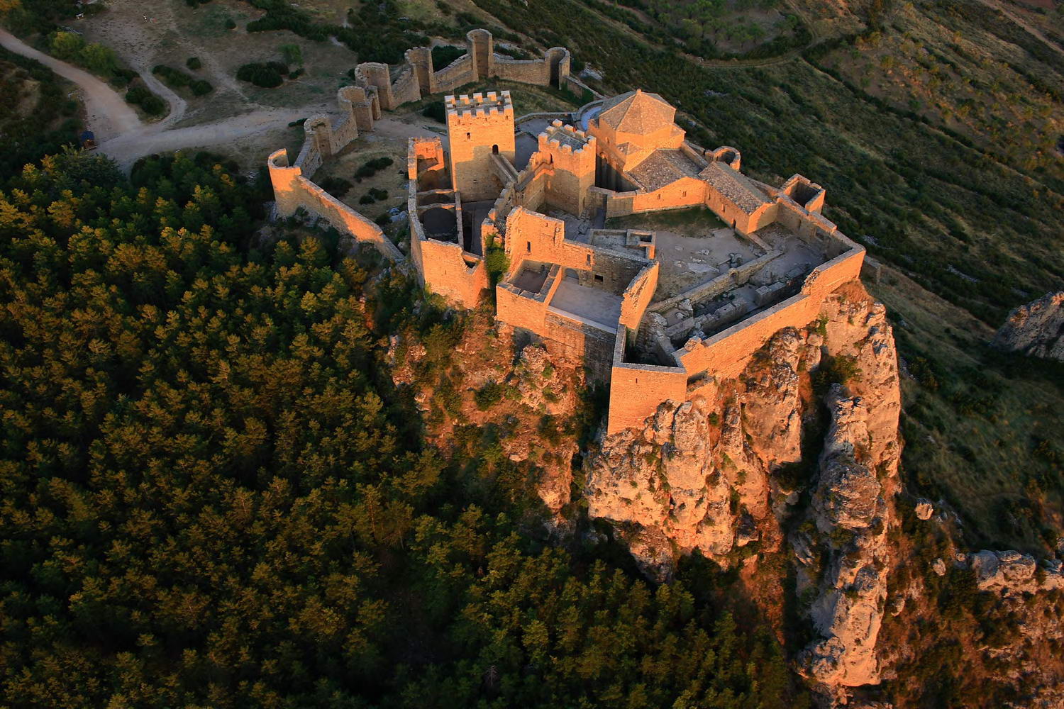
<path fill-rule="evenodd" d="M 376 224 L 302 174 L 371 130 L 397 96 L 450 87 L 460 73 L 512 71 L 513 60 L 492 53 L 489 34 L 468 39 L 458 68 L 442 78 L 427 49 L 408 52 L 395 82 L 360 66 L 360 85 L 340 89 L 345 118 L 335 126 L 328 117 L 307 119 L 294 166 L 284 151 L 270 156 L 278 213 L 302 206 L 402 259 Z M 516 64 L 528 83 L 586 89 L 568 75 L 563 49 Z M 377 84 L 373 75 L 382 77 Z M 744 175 L 738 150 L 686 140 L 676 109 L 655 94 L 636 89 L 571 114 L 520 118 L 509 91 L 445 101 L 446 147 L 442 138 L 409 144 L 417 277 L 467 308 L 497 278 L 500 326 L 582 360 L 609 383 L 608 434 L 642 425 L 666 400 L 687 401 L 737 376 L 774 333 L 809 324 L 829 293 L 860 276 L 864 249 L 820 214 L 822 187 L 798 174 L 779 187 Z M 702 207 L 706 223 L 694 237 L 631 223 Z M 626 227 L 608 227 L 616 217 L 627 217 Z M 493 249 L 506 256 L 501 273 L 488 271 Z"/>

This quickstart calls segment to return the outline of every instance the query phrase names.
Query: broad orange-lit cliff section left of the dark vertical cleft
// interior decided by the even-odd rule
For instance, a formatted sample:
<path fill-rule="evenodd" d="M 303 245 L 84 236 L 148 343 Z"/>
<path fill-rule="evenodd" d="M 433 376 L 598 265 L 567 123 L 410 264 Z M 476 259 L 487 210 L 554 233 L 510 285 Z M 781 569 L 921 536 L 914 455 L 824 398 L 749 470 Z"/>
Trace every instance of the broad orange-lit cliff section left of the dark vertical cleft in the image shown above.
<path fill-rule="evenodd" d="M 768 470 L 801 456 L 798 369 L 812 350 L 818 359 L 807 337 L 783 330 L 745 391 L 726 396 L 711 386 L 692 401 L 665 402 L 643 431 L 604 442 L 588 470 L 588 514 L 634 524 L 647 553 L 633 554 L 649 575 L 669 576 L 674 545 L 727 562 L 754 539 L 779 543 Z M 670 563 L 660 563 L 663 554 Z"/>

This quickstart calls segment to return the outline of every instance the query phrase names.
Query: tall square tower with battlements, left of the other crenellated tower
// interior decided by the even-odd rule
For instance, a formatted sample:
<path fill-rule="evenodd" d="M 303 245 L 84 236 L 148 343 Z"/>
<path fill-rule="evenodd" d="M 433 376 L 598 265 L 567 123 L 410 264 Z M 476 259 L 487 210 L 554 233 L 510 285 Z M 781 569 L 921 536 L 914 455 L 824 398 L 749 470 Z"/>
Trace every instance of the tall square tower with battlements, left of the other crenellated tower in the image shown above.
<path fill-rule="evenodd" d="M 516 153 L 510 91 L 448 96 L 444 102 L 454 189 L 463 202 L 494 200 L 502 189 L 492 167 L 495 155 L 513 166 Z"/>

